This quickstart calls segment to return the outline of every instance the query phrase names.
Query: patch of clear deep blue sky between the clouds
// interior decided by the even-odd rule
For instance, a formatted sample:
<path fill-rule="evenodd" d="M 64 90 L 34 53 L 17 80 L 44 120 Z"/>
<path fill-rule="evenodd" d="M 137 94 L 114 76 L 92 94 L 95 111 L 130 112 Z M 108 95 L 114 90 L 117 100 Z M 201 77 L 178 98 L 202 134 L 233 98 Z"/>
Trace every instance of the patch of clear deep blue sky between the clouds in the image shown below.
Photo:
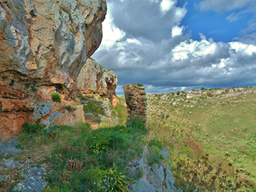
<path fill-rule="evenodd" d="M 178 4 L 182 5 L 184 2 L 186 1 L 178 1 Z M 252 14 L 247 14 L 237 21 L 230 22 L 227 19 L 230 16 L 230 11 L 201 11 L 195 2 L 198 3 L 198 1 L 187 1 L 188 12 L 181 21 L 181 25 L 187 26 L 185 33 L 191 31 L 191 38 L 198 41 L 200 40 L 199 33 L 203 33 L 206 38 L 213 38 L 217 42 L 233 41 L 233 38 L 240 35 L 241 29 L 247 27 L 247 21 L 252 16 Z M 238 14 L 242 10 L 237 9 L 232 13 Z"/>

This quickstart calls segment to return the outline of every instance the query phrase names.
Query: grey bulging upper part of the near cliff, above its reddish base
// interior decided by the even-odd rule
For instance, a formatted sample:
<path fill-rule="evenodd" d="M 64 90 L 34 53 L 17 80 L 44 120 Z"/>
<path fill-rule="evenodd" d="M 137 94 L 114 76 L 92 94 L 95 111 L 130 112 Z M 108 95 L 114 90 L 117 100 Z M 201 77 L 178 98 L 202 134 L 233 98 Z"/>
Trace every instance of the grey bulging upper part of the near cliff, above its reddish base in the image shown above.
<path fill-rule="evenodd" d="M 1 85 L 73 83 L 100 46 L 106 1 L 1 2 Z"/>

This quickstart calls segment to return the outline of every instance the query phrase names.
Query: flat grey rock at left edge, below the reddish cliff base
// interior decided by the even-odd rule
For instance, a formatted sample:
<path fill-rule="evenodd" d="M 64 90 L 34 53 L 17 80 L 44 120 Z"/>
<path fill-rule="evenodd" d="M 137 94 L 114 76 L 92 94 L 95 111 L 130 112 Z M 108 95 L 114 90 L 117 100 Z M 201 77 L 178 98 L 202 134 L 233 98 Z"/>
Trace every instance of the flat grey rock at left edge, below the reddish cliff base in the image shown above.
<path fill-rule="evenodd" d="M 11 139 L 9 142 L 1 142 L 0 143 L 0 155 L 10 155 L 10 154 L 19 154 L 22 151 L 22 149 L 17 149 L 16 146 L 20 144 L 19 142 L 16 142 L 14 139 Z"/>

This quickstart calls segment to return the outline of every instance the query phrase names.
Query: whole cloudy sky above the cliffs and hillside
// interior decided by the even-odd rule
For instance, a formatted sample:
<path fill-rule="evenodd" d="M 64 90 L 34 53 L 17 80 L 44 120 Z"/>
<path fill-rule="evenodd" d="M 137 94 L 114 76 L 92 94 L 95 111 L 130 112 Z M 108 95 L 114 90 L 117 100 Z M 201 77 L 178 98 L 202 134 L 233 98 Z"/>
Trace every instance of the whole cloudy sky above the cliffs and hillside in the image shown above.
<path fill-rule="evenodd" d="M 117 94 L 256 85 L 256 0 L 107 0 L 102 28 Z"/>

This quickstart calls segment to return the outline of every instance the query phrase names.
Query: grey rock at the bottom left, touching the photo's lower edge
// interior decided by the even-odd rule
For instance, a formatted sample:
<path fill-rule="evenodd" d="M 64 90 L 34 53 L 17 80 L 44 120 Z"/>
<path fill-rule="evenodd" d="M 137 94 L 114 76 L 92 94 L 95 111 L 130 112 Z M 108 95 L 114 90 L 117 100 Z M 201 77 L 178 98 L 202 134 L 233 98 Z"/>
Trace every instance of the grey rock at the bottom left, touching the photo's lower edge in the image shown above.
<path fill-rule="evenodd" d="M 46 180 L 42 177 L 46 175 L 46 170 L 43 168 L 32 167 L 26 171 L 25 179 L 14 186 L 12 191 L 20 192 L 41 192 L 44 191 L 47 185 Z"/>

